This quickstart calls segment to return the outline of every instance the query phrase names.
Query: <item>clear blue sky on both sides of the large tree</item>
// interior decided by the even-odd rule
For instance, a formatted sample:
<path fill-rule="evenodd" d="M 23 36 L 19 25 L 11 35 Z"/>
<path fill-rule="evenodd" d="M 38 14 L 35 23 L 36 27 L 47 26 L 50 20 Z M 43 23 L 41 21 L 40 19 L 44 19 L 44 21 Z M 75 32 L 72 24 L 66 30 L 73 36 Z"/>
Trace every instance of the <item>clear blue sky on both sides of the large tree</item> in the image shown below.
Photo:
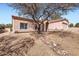
<path fill-rule="evenodd" d="M 7 4 L 0 3 L 0 24 L 12 23 L 12 15 L 18 15 L 16 11 Z M 63 15 L 70 23 L 79 23 L 79 10 L 69 12 L 67 15 Z"/>

